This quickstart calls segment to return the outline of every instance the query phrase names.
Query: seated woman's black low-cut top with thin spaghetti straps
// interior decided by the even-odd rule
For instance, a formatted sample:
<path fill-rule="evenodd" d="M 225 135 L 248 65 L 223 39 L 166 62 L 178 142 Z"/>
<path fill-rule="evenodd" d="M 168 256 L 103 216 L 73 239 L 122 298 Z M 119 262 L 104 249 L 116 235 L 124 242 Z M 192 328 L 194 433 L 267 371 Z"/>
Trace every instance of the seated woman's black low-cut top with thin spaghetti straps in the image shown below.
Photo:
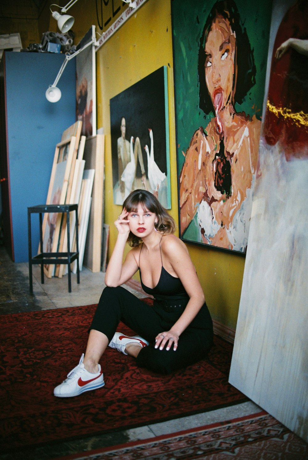
<path fill-rule="evenodd" d="M 143 247 L 143 243 L 142 243 L 142 247 Z M 168 299 L 168 300 L 169 299 L 170 300 L 187 299 L 188 300 L 189 296 L 186 293 L 186 290 L 180 278 L 170 275 L 170 273 L 163 268 L 162 249 L 160 247 L 160 242 L 159 242 L 159 249 L 160 249 L 160 257 L 162 260 L 162 270 L 160 273 L 158 283 L 154 288 L 148 288 L 147 286 L 145 286 L 145 284 L 143 284 L 141 270 L 140 270 L 140 255 L 141 255 L 142 247 L 139 253 L 139 273 L 140 273 L 140 281 L 141 281 L 142 289 L 147 294 L 153 295 L 155 299 L 157 300 L 163 300 L 163 299 Z"/>

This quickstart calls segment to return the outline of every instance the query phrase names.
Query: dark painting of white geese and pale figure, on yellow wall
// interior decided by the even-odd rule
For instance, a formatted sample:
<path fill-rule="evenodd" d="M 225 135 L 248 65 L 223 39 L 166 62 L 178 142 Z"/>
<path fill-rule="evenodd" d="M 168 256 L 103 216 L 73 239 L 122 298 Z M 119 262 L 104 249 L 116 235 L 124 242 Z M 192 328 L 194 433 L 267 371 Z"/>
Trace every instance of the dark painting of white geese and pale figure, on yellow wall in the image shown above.
<path fill-rule="evenodd" d="M 145 189 L 170 209 L 166 67 L 110 99 L 110 127 L 113 202 L 122 205 L 132 190 Z"/>

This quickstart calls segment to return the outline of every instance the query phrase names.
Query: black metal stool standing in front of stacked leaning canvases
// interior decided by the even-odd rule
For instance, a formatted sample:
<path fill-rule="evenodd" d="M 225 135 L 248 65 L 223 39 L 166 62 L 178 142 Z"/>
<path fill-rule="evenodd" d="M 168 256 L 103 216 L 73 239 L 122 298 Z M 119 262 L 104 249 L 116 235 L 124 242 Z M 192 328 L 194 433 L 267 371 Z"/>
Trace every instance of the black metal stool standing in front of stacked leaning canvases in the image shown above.
<path fill-rule="evenodd" d="M 76 252 L 70 252 L 70 211 L 76 212 Z M 41 253 L 32 257 L 31 247 L 31 214 L 40 214 L 40 247 Z M 43 232 L 42 232 L 42 213 L 66 213 L 67 215 L 67 252 L 66 253 L 44 253 L 43 251 Z M 32 265 L 41 265 L 41 283 L 44 284 L 44 264 L 65 264 L 68 268 L 69 292 L 72 292 L 70 279 L 70 264 L 77 259 L 77 284 L 79 284 L 79 242 L 78 242 L 78 205 L 77 204 L 41 204 L 28 207 L 28 241 L 29 241 L 29 283 L 30 294 L 33 293 Z M 61 258 L 61 259 L 60 259 Z"/>

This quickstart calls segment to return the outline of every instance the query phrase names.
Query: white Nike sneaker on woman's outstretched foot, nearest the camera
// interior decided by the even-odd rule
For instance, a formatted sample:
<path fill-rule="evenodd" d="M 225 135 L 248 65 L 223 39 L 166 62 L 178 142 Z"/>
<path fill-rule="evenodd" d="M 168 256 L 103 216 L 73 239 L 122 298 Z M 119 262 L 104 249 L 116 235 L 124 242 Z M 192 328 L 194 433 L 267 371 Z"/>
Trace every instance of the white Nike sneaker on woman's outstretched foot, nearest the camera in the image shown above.
<path fill-rule="evenodd" d="M 100 368 L 99 372 L 92 374 L 85 369 L 83 364 L 84 354 L 82 353 L 78 366 L 67 374 L 67 379 L 53 390 L 54 396 L 66 398 L 78 396 L 84 391 L 96 390 L 105 385 L 104 374 Z"/>

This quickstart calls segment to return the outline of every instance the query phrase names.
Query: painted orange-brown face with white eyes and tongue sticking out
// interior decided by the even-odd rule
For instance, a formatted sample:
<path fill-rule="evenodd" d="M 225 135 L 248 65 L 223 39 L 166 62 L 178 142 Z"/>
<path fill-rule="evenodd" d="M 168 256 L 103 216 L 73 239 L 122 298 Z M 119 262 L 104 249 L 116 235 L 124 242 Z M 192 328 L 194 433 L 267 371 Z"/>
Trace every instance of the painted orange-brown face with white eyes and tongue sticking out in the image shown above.
<path fill-rule="evenodd" d="M 204 51 L 205 81 L 217 115 L 231 102 L 233 91 L 235 34 L 227 19 L 216 17 Z"/>

